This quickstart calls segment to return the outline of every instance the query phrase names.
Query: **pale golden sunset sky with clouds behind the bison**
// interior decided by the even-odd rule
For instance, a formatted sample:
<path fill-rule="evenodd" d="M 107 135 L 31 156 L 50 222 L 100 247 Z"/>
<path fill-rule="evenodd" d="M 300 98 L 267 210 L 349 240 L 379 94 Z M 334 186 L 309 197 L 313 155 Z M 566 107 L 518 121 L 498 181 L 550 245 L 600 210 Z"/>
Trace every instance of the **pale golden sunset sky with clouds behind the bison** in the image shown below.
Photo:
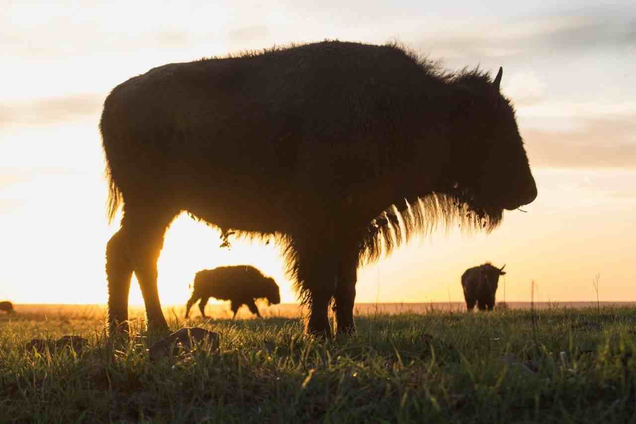
<path fill-rule="evenodd" d="M 491 234 L 439 229 L 359 270 L 358 302 L 462 300 L 460 276 L 501 267 L 508 301 L 636 300 L 633 1 L 0 1 L 0 300 L 104 303 L 104 157 L 111 88 L 169 62 L 322 39 L 398 41 L 449 69 L 504 68 L 539 195 Z M 159 260 L 163 304 L 195 272 L 252 264 L 291 282 L 272 245 L 180 216 Z M 503 281 L 502 281 L 503 282 Z M 504 300 L 502 282 L 497 293 Z M 134 283 L 130 302 L 142 302 Z"/>

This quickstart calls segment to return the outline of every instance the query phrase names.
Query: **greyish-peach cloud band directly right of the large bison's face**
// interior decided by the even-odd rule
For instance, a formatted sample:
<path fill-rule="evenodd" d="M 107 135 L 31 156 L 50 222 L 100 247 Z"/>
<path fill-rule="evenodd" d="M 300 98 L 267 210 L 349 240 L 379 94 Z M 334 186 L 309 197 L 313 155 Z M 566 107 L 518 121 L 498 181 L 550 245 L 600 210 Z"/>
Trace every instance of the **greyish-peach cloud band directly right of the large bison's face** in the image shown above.
<path fill-rule="evenodd" d="M 522 136 L 532 166 L 636 169 L 636 115 L 586 120 L 575 131 L 522 129 Z"/>

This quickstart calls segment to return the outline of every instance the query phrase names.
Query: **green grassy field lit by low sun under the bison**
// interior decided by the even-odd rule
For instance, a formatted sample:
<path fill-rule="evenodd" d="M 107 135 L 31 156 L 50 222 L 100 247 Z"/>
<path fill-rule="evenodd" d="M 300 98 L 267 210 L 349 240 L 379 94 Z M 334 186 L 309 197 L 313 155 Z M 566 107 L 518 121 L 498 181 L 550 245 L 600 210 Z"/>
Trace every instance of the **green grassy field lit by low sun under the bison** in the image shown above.
<path fill-rule="evenodd" d="M 330 343 L 294 318 L 171 325 L 214 330 L 221 346 L 153 362 L 142 345 L 156 337 L 113 350 L 89 309 L 0 314 L 0 421 L 636 421 L 633 307 L 369 314 Z M 88 347 L 25 350 L 67 334 Z"/>

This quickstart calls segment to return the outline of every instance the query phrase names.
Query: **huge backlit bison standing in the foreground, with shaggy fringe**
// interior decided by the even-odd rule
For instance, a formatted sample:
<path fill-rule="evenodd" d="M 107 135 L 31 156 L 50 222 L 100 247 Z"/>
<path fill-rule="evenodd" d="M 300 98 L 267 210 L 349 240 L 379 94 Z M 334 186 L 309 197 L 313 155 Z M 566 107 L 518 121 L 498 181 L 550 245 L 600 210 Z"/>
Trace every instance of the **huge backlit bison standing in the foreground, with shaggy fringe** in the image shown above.
<path fill-rule="evenodd" d="M 396 45 L 324 41 L 173 63 L 113 89 L 100 121 L 109 218 L 109 325 L 135 272 L 167 330 L 156 261 L 188 211 L 223 238 L 273 239 L 309 307 L 307 331 L 354 331 L 357 268 L 436 223 L 492 230 L 537 188 L 511 103 L 478 69 Z"/>

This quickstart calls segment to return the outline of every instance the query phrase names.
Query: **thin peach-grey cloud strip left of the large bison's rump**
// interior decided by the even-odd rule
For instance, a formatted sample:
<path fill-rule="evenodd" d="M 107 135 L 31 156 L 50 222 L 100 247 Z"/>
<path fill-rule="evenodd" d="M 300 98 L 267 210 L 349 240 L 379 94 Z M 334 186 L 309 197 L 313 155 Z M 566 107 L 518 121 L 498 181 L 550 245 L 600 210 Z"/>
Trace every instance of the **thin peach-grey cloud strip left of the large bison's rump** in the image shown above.
<path fill-rule="evenodd" d="M 0 125 L 55 124 L 96 115 L 105 97 L 103 94 L 79 94 L 0 103 Z"/>

